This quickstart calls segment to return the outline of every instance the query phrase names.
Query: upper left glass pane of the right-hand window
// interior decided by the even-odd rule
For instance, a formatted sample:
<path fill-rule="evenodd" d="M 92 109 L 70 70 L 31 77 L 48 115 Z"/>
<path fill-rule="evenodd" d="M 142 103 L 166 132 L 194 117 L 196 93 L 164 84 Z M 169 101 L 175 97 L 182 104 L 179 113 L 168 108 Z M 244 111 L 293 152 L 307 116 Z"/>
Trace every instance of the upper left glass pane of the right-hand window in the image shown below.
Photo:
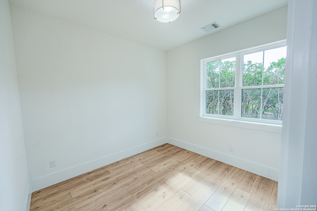
<path fill-rule="evenodd" d="M 263 52 L 243 56 L 243 86 L 261 86 L 263 72 Z"/>

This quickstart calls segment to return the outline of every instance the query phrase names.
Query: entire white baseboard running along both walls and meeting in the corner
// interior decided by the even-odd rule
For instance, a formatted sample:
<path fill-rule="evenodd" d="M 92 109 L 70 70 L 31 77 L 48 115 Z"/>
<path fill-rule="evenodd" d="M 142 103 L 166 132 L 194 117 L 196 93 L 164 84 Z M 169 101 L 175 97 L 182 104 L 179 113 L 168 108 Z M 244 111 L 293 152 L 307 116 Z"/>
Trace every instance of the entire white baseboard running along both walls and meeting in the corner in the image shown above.
<path fill-rule="evenodd" d="M 213 151 L 211 149 L 208 149 L 208 148 L 205 148 L 202 146 L 198 146 L 195 144 L 191 144 L 188 142 L 184 142 L 184 141 L 181 141 L 178 139 L 164 137 L 164 138 L 155 140 L 153 142 L 149 142 L 149 143 L 139 145 L 139 146 L 127 149 L 127 150 L 123 150 L 123 151 L 108 155 L 108 156 L 103 157 L 103 158 L 91 160 L 89 162 L 85 162 L 83 164 L 73 166 L 71 168 L 64 169 L 64 170 L 59 171 L 59 172 L 55 172 L 53 174 L 44 176 L 42 178 L 32 180 L 30 185 L 29 185 L 30 193 L 32 191 L 34 192 L 34 191 L 41 190 L 43 188 L 49 187 L 49 186 L 56 184 L 58 182 L 62 182 L 64 180 L 67 180 L 67 179 L 70 179 L 72 177 L 78 176 L 80 174 L 86 173 L 88 171 L 94 170 L 96 168 L 100 168 L 100 167 L 105 166 L 107 164 L 116 162 L 120 159 L 128 158 L 128 157 L 136 155 L 138 153 L 142 153 L 144 151 L 158 147 L 158 146 L 165 144 L 165 143 L 175 145 L 177 147 L 192 151 L 194 153 L 198 153 L 198 154 L 206 156 L 208 158 L 212 158 L 212 159 L 227 163 L 229 165 L 233 165 L 235 167 L 244 169 L 246 171 L 250 171 L 252 173 L 264 176 L 266 178 L 278 181 L 278 169 L 275 169 L 275 168 L 272 168 L 269 166 L 265 166 L 265 165 L 262 165 L 260 163 L 253 162 L 251 160 L 238 158 L 238 157 L 234 157 L 234 156 L 220 153 L 217 151 Z M 31 187 L 32 187 L 32 189 L 31 189 Z M 29 201 L 31 199 L 31 195 L 29 195 L 28 198 L 29 198 L 28 199 L 28 201 Z M 26 205 L 26 207 L 27 207 L 27 205 Z"/>

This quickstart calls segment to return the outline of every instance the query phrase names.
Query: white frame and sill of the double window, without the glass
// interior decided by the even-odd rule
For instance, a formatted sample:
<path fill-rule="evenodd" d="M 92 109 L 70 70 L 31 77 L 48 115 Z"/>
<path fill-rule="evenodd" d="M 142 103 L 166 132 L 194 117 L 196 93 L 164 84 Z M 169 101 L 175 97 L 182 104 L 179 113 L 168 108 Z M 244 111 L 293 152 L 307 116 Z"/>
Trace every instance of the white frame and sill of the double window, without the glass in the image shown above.
<path fill-rule="evenodd" d="M 259 88 L 283 88 L 284 84 L 279 85 L 262 85 L 262 86 L 252 86 L 243 87 L 242 86 L 242 76 L 243 76 L 243 55 L 249 53 L 256 53 L 259 51 L 265 51 L 269 49 L 274 49 L 278 47 L 286 46 L 286 40 L 269 43 L 254 48 L 244 49 L 241 51 L 226 53 L 222 55 L 213 56 L 210 58 L 201 59 L 201 113 L 199 116 L 199 121 L 223 124 L 229 126 L 238 126 L 249 129 L 258 129 L 271 132 L 281 132 L 282 121 L 279 120 L 268 120 L 268 119 L 256 119 L 241 117 L 241 105 L 242 105 L 242 90 L 243 89 L 259 89 Z M 235 87 L 233 88 L 217 88 L 214 90 L 226 90 L 233 89 L 234 91 L 234 108 L 233 116 L 220 115 L 220 114 L 209 114 L 206 113 L 206 88 L 207 83 L 207 71 L 206 65 L 208 62 L 222 60 L 226 58 L 236 57 L 236 77 L 235 77 Z"/>

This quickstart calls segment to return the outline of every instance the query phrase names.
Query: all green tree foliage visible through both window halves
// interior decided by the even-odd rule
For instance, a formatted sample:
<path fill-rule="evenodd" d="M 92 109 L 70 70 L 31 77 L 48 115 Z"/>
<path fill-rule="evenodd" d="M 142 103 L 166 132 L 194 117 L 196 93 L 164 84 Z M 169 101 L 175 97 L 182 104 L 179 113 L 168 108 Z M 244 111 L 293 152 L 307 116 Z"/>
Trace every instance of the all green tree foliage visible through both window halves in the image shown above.
<path fill-rule="evenodd" d="M 207 63 L 207 88 L 235 86 L 235 61 L 213 61 Z M 243 86 L 284 84 L 285 58 L 271 62 L 267 68 L 263 63 L 252 61 L 243 64 Z M 242 90 L 242 117 L 282 120 L 283 88 L 257 88 Z M 206 112 L 233 115 L 233 90 L 206 92 Z"/>

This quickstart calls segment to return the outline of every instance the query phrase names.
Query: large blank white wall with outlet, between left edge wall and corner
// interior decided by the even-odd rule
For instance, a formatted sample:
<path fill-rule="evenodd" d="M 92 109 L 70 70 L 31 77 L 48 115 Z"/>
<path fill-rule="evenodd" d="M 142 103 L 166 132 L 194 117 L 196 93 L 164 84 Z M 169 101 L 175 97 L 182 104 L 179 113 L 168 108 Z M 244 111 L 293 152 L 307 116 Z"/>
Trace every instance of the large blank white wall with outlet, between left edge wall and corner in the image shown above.
<path fill-rule="evenodd" d="M 165 52 L 11 13 L 33 191 L 166 143 Z"/>

